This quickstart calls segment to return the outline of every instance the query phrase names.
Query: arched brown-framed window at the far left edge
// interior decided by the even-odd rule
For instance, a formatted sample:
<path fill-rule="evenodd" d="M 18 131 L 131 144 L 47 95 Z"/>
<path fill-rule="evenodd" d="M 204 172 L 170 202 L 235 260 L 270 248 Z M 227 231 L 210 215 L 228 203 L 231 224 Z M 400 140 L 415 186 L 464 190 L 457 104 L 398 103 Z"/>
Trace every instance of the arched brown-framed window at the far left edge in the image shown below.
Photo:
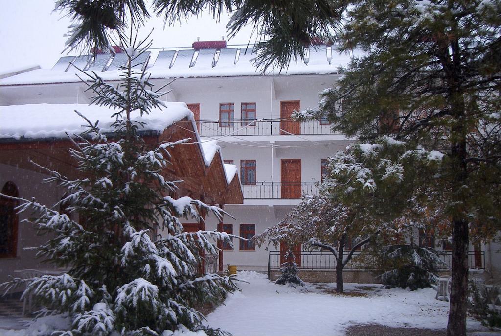
<path fill-rule="evenodd" d="M 14 182 L 7 182 L 2 194 L 19 197 L 18 187 Z M 18 247 L 18 214 L 19 202 L 0 196 L 0 258 L 15 257 Z"/>

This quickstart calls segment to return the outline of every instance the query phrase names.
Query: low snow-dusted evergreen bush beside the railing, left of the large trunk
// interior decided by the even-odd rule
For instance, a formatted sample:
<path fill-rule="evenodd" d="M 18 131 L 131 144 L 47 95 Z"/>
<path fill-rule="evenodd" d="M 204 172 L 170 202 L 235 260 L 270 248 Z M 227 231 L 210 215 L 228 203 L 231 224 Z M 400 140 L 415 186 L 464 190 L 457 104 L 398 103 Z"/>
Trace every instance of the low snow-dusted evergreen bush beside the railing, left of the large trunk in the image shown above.
<path fill-rule="evenodd" d="M 436 282 L 438 253 L 411 245 L 390 245 L 380 253 L 379 275 L 387 288 L 408 287 L 410 290 L 431 287 Z"/>

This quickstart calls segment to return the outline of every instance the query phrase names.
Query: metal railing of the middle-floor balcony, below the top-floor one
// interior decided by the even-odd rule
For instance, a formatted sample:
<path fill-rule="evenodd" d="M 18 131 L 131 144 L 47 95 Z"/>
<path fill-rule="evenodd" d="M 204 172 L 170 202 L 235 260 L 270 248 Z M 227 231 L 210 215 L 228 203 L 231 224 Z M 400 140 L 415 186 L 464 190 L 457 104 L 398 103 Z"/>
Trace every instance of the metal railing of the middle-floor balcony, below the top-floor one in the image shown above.
<path fill-rule="evenodd" d="M 303 195 L 317 195 L 317 183 L 256 182 L 242 184 L 243 198 L 247 200 L 300 199 Z"/>

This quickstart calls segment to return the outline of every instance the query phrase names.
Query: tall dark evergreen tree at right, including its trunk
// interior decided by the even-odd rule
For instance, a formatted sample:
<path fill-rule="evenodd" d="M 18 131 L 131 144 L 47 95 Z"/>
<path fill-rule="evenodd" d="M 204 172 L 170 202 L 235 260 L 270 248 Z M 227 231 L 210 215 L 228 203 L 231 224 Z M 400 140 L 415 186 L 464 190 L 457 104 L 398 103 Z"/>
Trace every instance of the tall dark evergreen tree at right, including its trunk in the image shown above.
<path fill-rule="evenodd" d="M 320 108 L 333 130 L 377 142 L 392 134 L 414 155 L 401 188 L 428 192 L 452 236 L 452 291 L 447 334 L 465 335 L 467 250 L 499 228 L 501 188 L 501 3 L 499 1 L 353 2 L 341 51 L 361 48 Z M 303 114 L 304 115 L 304 114 Z M 429 167 L 426 161 L 432 163 Z M 418 168 L 418 169 L 416 169 Z M 430 170 L 431 168 L 431 170 Z M 385 200 L 390 200 L 385 198 Z"/>

